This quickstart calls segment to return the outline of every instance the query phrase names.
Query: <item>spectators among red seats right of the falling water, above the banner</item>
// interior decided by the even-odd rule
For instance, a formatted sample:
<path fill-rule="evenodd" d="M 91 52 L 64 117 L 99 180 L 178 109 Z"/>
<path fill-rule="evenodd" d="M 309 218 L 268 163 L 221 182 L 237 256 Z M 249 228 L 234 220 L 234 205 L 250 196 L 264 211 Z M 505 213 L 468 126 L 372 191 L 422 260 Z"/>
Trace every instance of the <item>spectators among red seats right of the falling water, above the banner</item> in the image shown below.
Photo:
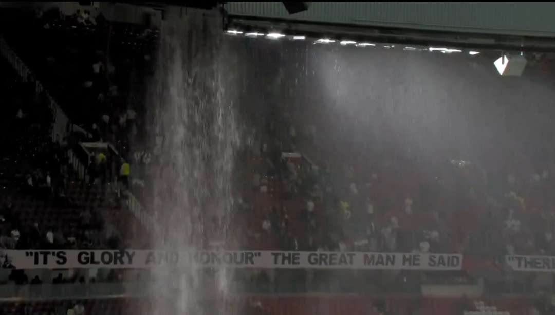
<path fill-rule="evenodd" d="M 284 64 L 295 65 L 285 61 L 291 55 L 282 55 Z M 518 123 L 531 121 L 527 119 L 538 112 L 552 114 L 547 104 L 534 104 L 526 114 L 515 110 L 498 119 L 496 128 L 518 126 L 518 131 L 490 141 L 481 156 L 472 156 L 475 159 L 461 159 L 469 156 L 462 150 L 458 154 L 438 150 L 430 158 L 410 150 L 418 144 L 395 139 L 402 126 L 380 130 L 379 121 L 374 121 L 371 127 L 379 131 L 359 129 L 349 134 L 342 130 L 348 129 L 344 125 L 361 125 L 361 121 L 326 108 L 323 97 L 295 106 L 295 101 L 281 95 L 282 90 L 303 84 L 297 82 L 302 77 L 294 82 L 278 79 L 280 83 L 272 82 L 275 76 L 270 78 L 261 79 L 254 89 L 274 109 L 255 116 L 264 124 L 253 145 L 254 154 L 249 151 L 238 158 L 239 163 L 248 161 L 241 181 L 248 184 L 241 186 L 234 205 L 240 225 L 250 228 L 236 231 L 240 241 L 235 245 L 464 253 L 465 257 L 490 258 L 499 265 L 504 255 L 551 255 L 555 250 L 548 192 L 553 187 L 548 161 L 552 150 L 537 150 L 549 147 L 549 138 L 541 137 L 549 134 L 549 127 Z M 282 88 L 277 93 L 265 92 L 265 86 Z M 297 89 L 300 93 L 311 90 L 306 85 Z M 364 116 L 369 110 L 363 107 L 349 110 Z M 402 117 L 398 119 L 401 124 Z M 360 139 L 361 135 L 367 138 Z M 382 139 L 376 141 L 376 137 Z M 503 156 L 499 148 L 504 146 L 513 148 L 515 154 Z M 524 146 L 527 152 L 521 151 L 526 150 Z"/>

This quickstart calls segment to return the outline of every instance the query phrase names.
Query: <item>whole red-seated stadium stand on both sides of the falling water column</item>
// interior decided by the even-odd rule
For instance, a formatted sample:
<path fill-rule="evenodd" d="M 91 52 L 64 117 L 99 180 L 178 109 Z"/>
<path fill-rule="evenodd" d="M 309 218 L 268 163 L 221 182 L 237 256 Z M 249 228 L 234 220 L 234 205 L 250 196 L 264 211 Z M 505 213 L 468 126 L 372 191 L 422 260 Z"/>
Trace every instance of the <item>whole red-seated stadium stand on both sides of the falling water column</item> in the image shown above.
<path fill-rule="evenodd" d="M 151 206 L 155 200 L 144 182 L 148 176 L 135 181 L 134 177 L 142 168 L 155 167 L 155 158 L 148 149 L 133 148 L 145 137 L 146 104 L 145 98 L 130 91 L 144 90 L 144 77 L 152 73 L 150 56 L 157 31 L 123 23 L 108 27 L 101 17 L 63 17 L 56 11 L 43 13 L 39 19 L 20 18 L 33 21 L 21 30 L 25 36 L 7 32 L 5 37 L 36 77 L 21 78 L 6 60 L 0 64 L 0 246 L 148 248 L 148 225 L 156 218 L 156 210 L 150 208 L 157 207 Z M 109 39 L 112 46 L 105 47 L 110 34 L 114 34 Z M 37 92 L 37 78 L 46 82 L 43 92 Z M 258 84 L 269 83 L 261 80 Z M 53 141 L 56 113 L 46 90 L 71 119 L 68 128 L 81 126 L 65 139 Z M 420 293 L 422 284 L 476 284 L 485 273 L 506 272 L 504 255 L 553 255 L 552 199 L 547 193 L 553 186 L 553 170 L 549 165 L 538 162 L 517 170 L 517 157 L 514 165 L 491 170 L 486 169 L 491 164 L 449 160 L 445 155 L 431 163 L 438 176 L 430 176 L 430 165 L 421 167 L 413 156 L 395 148 L 384 148 L 376 156 L 345 144 L 344 139 L 319 136 L 327 122 L 312 115 L 317 110 L 310 106 L 295 114 L 287 104 L 280 106 L 261 119 L 268 124 L 260 128 L 264 130 L 255 149 L 238 153 L 244 165 L 238 166 L 240 189 L 234 192 L 228 225 L 242 228 L 232 228 L 224 237 L 221 222 L 201 217 L 193 223 L 204 225 L 198 229 L 203 235 L 191 236 L 199 240 L 198 247 L 462 253 L 465 265 L 461 272 L 439 276 L 433 272 L 237 271 L 234 285 L 251 296 L 229 302 L 230 309 L 271 315 L 377 315 L 384 309 L 403 315 L 528 313 L 532 298 L 472 300 L 428 298 Z M 94 145 L 98 143 L 105 145 Z M 74 159 L 81 160 L 86 170 L 73 164 Z M 124 164 L 131 170 L 120 171 Z M 531 168 L 532 175 L 528 174 Z M 505 172 L 509 169 L 515 171 Z M 490 192 L 493 181 L 502 182 L 502 188 Z M 142 209 L 137 210 L 139 215 L 131 215 L 138 209 L 132 204 Z M 133 208 L 131 212 L 128 207 Z M 123 281 L 123 274 L 111 272 L 106 281 Z M 34 280 L 21 272 L 5 276 L 18 285 Z M 79 273 L 62 280 L 52 278 L 57 283 L 81 281 Z M 530 281 L 522 278 L 509 281 L 520 289 L 507 289 L 499 278 L 485 278 L 486 291 L 493 295 L 531 288 Z M 51 282 L 37 279 L 35 284 Z M 319 291 L 329 294 L 302 294 Z M 261 294 L 274 292 L 299 295 Z M 413 295 L 381 297 L 384 292 Z M 146 302 L 136 298 L 2 302 L 0 307 L 0 314 L 69 314 L 71 308 L 74 314 L 150 313 Z"/>

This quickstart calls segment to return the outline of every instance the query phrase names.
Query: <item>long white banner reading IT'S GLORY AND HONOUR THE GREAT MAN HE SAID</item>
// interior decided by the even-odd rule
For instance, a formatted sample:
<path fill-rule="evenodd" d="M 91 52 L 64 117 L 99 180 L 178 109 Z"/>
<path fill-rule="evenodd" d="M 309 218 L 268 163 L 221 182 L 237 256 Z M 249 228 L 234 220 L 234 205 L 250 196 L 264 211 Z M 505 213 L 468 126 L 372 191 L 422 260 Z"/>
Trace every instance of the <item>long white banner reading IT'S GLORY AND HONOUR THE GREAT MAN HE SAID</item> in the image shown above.
<path fill-rule="evenodd" d="M 461 270 L 462 255 L 370 252 L 4 250 L 2 268 L 321 268 Z"/>

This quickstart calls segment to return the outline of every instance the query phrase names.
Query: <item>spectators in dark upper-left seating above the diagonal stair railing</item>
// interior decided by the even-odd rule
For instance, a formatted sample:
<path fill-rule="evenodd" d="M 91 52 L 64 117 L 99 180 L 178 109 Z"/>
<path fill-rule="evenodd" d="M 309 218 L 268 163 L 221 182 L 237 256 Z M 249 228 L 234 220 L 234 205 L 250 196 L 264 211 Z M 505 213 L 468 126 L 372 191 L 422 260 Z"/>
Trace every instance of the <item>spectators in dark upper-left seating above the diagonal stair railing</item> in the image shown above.
<path fill-rule="evenodd" d="M 93 17 L 82 10 L 72 16 L 55 8 L 34 17 L 14 14 L 32 22 L 23 24 L 16 36 L 6 33 L 8 42 L 43 79 L 72 123 L 87 130 L 68 141 L 110 143 L 120 158 L 130 161 L 130 142 L 144 136 L 144 115 L 138 113 L 144 114 L 145 104 L 140 93 L 129 90 L 144 93 L 143 74 L 149 72 L 157 32 L 124 23 L 108 25 L 102 13 Z M 7 16 L 6 24 L 17 18 Z M 37 47 L 42 47 L 40 52 Z M 119 170 L 120 159 L 114 162 Z M 97 170 L 102 166 L 91 164 L 91 177 L 104 174 Z"/>

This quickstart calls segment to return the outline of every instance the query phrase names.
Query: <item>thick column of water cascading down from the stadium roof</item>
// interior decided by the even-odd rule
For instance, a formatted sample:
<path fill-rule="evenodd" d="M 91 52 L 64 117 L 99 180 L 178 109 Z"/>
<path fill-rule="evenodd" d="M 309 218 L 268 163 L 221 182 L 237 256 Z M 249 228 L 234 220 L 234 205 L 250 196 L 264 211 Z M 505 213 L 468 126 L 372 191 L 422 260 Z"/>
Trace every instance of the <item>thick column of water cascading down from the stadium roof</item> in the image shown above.
<path fill-rule="evenodd" d="M 209 226 L 226 237 L 239 136 L 233 104 L 222 86 L 225 49 L 216 17 L 188 11 L 163 22 L 149 91 L 149 134 L 158 155 L 152 179 L 158 225 L 153 244 L 159 249 L 199 248 Z M 167 280 L 154 288 L 157 314 L 225 312 L 225 270 L 165 268 L 153 277 Z"/>

